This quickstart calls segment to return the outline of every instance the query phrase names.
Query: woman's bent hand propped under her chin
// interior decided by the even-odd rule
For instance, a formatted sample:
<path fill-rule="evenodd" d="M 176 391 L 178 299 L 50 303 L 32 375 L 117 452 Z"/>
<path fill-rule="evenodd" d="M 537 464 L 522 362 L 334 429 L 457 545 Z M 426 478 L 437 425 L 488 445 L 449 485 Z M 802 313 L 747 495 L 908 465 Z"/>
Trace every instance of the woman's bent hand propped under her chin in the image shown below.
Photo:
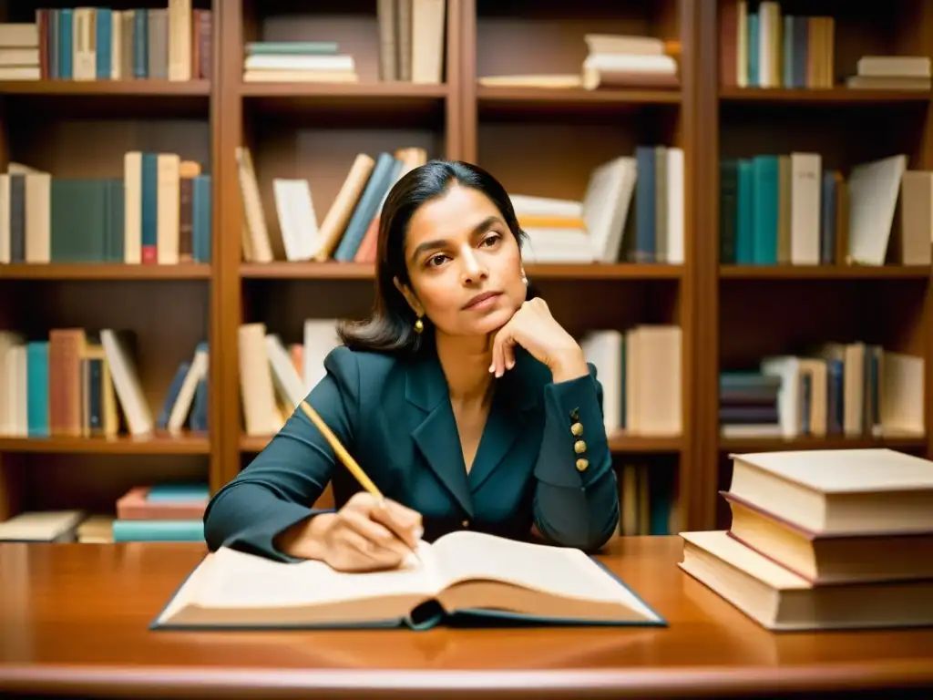
<path fill-rule="evenodd" d="M 590 373 L 577 341 L 554 320 L 547 302 L 539 297 L 525 301 L 508 323 L 496 331 L 493 364 L 489 368 L 496 377 L 515 366 L 516 344 L 547 365 L 554 382 Z"/>

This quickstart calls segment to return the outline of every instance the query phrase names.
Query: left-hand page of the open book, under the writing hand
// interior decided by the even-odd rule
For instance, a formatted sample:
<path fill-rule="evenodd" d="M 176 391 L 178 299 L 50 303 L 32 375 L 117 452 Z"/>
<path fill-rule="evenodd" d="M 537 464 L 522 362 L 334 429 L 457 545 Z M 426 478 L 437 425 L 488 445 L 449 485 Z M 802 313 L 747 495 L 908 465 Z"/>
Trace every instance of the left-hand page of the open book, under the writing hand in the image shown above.
<path fill-rule="evenodd" d="M 343 573 L 318 561 L 285 564 L 254 554 L 221 548 L 209 576 L 194 594 L 207 608 L 282 608 L 327 605 L 353 599 L 394 595 L 433 595 L 438 579 L 430 547 L 420 562 L 391 571 Z"/>

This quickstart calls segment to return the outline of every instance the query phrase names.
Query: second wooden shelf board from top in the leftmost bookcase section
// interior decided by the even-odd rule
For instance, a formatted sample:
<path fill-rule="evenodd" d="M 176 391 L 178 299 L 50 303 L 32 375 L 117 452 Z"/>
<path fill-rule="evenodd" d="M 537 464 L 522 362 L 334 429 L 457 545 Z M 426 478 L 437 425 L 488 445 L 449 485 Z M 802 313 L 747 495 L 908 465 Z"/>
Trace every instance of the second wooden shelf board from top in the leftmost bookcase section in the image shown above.
<path fill-rule="evenodd" d="M 0 280 L 191 280 L 210 279 L 211 266 L 124 265 L 121 263 L 50 263 L 0 265 Z"/>

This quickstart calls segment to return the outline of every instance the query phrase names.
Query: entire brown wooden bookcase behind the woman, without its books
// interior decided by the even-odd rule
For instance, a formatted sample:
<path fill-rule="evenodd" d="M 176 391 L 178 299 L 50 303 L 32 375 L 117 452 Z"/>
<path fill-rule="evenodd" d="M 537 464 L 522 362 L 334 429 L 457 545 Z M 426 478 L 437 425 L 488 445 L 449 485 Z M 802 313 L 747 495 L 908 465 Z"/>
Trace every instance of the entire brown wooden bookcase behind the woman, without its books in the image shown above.
<path fill-rule="evenodd" d="M 679 147 L 682 262 L 526 268 L 575 334 L 642 323 L 680 329 L 680 434 L 615 434 L 610 444 L 618 464 L 648 465 L 652 483 L 657 478 L 675 488 L 681 525 L 706 529 L 723 516 L 717 489 L 727 483 L 731 451 L 888 445 L 933 455 L 929 411 L 921 435 L 720 435 L 719 372 L 752 366 L 765 355 L 861 339 L 923 357 L 927 366 L 933 361 L 929 265 L 732 264 L 719 255 L 724 159 L 813 151 L 847 174 L 860 162 L 904 153 L 909 169 L 933 169 L 929 91 L 838 87 L 863 54 L 933 55 L 927 38 L 933 11 L 921 0 L 898 5 L 894 15 L 870 4 L 787 0 L 781 7 L 789 14 L 835 18 L 837 87 L 751 89 L 720 80 L 719 25 L 732 4 L 448 0 L 442 79 L 422 84 L 380 79 L 375 0 L 199 0 L 194 7 L 212 10 L 209 77 L 0 80 L 4 166 L 15 161 L 61 177 L 116 177 L 126 151 L 167 150 L 201 162 L 213 175 L 210 262 L 0 264 L 0 329 L 35 336 L 78 326 L 134 330 L 153 413 L 178 362 L 202 340 L 215 350 L 209 433 L 0 437 L 0 517 L 26 508 L 112 503 L 134 483 L 153 479 L 207 479 L 216 491 L 268 441 L 244 432 L 241 324 L 261 321 L 269 332 L 297 342 L 307 318 L 369 311 L 370 263 L 291 262 L 281 250 L 273 251 L 272 262 L 244 258 L 237 147 L 252 154 L 271 232 L 278 229 L 273 178 L 306 178 L 320 220 L 358 152 L 421 147 L 429 158 L 477 162 L 511 193 L 581 198 L 599 163 L 641 145 Z M 0 4 L 0 21 L 31 21 L 36 7 Z M 480 84 L 480 77 L 494 75 L 578 72 L 586 56 L 583 35 L 592 32 L 661 38 L 678 60 L 678 85 L 584 90 Z M 341 53 L 353 55 L 358 82 L 244 80 L 245 46 L 257 40 L 336 41 Z M 933 372 L 925 376 L 928 397 Z"/>

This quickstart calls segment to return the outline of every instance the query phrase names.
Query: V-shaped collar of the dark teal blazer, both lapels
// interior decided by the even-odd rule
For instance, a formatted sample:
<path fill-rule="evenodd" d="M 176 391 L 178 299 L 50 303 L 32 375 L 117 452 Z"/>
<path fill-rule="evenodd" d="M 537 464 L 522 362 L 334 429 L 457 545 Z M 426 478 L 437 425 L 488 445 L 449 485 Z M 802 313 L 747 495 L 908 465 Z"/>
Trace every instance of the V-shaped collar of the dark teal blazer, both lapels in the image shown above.
<path fill-rule="evenodd" d="M 521 348 L 516 349 L 515 367 L 497 380 L 480 447 L 467 474 L 447 380 L 438 357 L 427 352 L 409 361 L 405 398 L 424 412 L 411 437 L 469 517 L 474 515 L 472 494 L 503 464 L 521 436 L 529 414 L 541 400 L 543 383 L 537 374 L 539 369 L 547 371 L 547 368 L 536 368 L 536 364 L 539 364 L 536 359 Z M 511 458 L 520 457 L 511 455 Z"/>

